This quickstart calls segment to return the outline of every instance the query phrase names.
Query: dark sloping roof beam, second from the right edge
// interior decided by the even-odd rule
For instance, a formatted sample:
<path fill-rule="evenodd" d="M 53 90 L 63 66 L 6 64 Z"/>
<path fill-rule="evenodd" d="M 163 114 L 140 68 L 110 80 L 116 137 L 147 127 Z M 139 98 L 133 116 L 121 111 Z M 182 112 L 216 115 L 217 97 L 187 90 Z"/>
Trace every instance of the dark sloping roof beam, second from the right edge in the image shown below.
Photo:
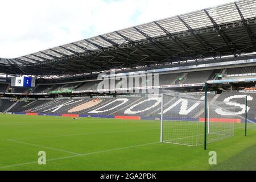
<path fill-rule="evenodd" d="M 206 9 L 204 9 L 204 12 L 205 12 L 205 14 L 207 14 L 207 16 L 208 16 L 208 18 L 210 19 L 210 21 L 212 22 L 214 28 L 218 31 L 218 34 L 219 34 L 219 35 L 221 36 L 221 38 L 224 40 L 226 46 L 228 46 L 229 50 L 230 50 L 231 52 L 233 52 L 233 55 L 234 55 L 234 56 L 237 56 L 237 55 L 236 55 L 236 52 L 237 52 L 237 53 L 240 53 L 240 51 L 239 51 L 236 47 L 234 47 L 234 45 L 233 45 L 232 43 L 230 43 L 230 40 L 229 40 L 228 36 L 226 36 L 226 35 L 224 34 L 224 32 L 223 32 L 222 30 L 220 30 L 218 24 L 214 21 L 214 19 L 212 18 L 212 16 L 209 15 L 208 11 L 207 11 Z M 232 47 L 230 47 L 230 46 L 232 46 Z"/>

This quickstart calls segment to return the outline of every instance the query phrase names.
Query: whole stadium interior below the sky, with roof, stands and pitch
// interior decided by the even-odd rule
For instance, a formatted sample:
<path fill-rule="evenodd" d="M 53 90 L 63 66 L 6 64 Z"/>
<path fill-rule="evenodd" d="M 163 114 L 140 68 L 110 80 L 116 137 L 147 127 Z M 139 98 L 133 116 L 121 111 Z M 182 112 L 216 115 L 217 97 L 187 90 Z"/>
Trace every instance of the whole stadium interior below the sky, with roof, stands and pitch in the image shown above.
<path fill-rule="evenodd" d="M 1 58 L 0 73 L 0 170 L 256 169 L 255 0 Z"/>

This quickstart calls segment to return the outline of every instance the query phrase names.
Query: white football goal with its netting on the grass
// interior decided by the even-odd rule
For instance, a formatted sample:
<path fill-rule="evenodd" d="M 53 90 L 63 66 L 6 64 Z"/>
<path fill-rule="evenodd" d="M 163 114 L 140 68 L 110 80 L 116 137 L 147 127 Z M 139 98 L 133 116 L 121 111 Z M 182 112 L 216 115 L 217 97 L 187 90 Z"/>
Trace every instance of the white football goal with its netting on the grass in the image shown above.
<path fill-rule="evenodd" d="M 199 146 L 205 139 L 210 143 L 232 137 L 237 107 L 224 107 L 215 99 L 215 93 L 207 94 L 206 102 L 204 93 L 162 94 L 161 142 Z M 228 115 L 221 115 L 220 110 Z"/>

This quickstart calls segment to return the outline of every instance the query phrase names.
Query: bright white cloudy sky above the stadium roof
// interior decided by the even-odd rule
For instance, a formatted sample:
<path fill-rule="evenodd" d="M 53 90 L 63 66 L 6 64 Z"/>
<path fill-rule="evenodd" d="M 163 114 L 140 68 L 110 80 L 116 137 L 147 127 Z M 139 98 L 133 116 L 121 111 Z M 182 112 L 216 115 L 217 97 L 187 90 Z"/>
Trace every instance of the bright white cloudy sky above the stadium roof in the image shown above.
<path fill-rule="evenodd" d="M 8 0 L 0 57 L 14 58 L 232 0 Z"/>

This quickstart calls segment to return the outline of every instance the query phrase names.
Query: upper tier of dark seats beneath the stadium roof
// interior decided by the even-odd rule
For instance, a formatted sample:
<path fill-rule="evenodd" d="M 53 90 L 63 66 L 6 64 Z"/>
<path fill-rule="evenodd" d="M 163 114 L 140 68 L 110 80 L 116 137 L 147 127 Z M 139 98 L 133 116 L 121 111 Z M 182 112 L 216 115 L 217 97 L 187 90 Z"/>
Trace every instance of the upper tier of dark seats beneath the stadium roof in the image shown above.
<path fill-rule="evenodd" d="M 226 76 L 234 76 L 243 74 L 244 76 L 253 74 L 256 72 L 256 67 L 241 67 L 241 68 L 226 68 L 226 69 L 213 69 L 209 71 L 188 71 L 183 73 L 159 73 L 159 85 L 177 85 L 177 84 L 199 84 L 204 83 L 207 80 L 215 80 L 217 75 L 221 75 L 222 79 Z M 200 76 L 199 76 L 200 75 Z M 256 75 L 256 73 L 255 73 Z M 129 79 L 127 78 L 127 86 L 129 87 Z M 134 77 L 132 79 L 135 80 Z M 150 80 L 146 80 L 148 83 Z M 110 81 L 109 81 L 110 82 Z M 49 93 L 51 91 L 58 90 L 97 90 L 98 85 L 102 84 L 100 80 L 87 80 L 84 82 L 71 82 L 68 84 L 39 84 L 36 85 L 34 89 L 14 87 L 11 88 L 12 93 Z M 154 83 L 154 75 L 152 77 L 152 83 Z M 122 88 L 122 78 L 120 80 L 115 80 L 115 87 Z M 8 84 L 2 85 L 0 91 L 6 92 Z M 139 86 L 142 86 L 142 79 L 139 78 Z M 133 87 L 135 87 L 135 82 L 133 81 Z"/>

